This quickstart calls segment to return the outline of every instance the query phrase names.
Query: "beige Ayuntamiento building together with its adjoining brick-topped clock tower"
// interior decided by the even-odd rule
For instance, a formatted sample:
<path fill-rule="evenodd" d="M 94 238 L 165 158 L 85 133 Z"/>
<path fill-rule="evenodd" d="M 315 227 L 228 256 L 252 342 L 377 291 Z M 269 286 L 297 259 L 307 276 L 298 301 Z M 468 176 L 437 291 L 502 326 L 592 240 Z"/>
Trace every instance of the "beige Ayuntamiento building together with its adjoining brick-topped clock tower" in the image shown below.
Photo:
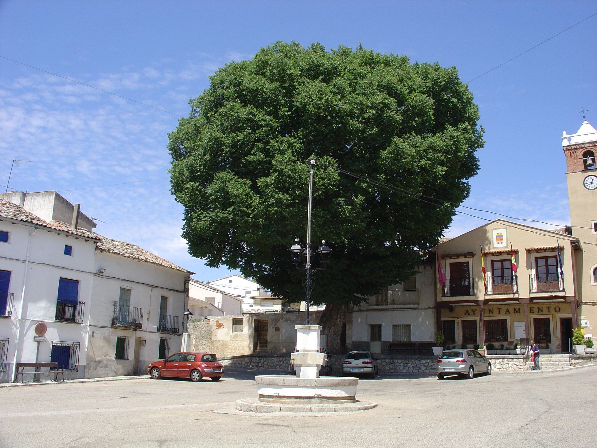
<path fill-rule="evenodd" d="M 597 329 L 597 131 L 562 136 L 571 226 L 495 220 L 436 249 L 436 329 L 445 343 L 513 349 L 535 339 L 569 352 L 572 329 Z M 485 268 L 485 275 L 484 275 Z M 597 334 L 595 335 L 597 336 Z"/>

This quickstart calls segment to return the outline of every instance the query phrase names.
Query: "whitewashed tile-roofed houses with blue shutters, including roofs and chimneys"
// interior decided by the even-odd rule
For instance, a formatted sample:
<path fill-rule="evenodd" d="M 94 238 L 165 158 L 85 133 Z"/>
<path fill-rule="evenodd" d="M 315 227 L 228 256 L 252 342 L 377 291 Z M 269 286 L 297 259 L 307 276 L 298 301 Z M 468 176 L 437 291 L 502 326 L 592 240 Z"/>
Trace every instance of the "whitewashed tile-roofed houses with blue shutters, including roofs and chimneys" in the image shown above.
<path fill-rule="evenodd" d="M 192 272 L 93 227 L 56 192 L 0 195 L 0 382 L 36 361 L 70 379 L 134 375 L 180 348 Z"/>

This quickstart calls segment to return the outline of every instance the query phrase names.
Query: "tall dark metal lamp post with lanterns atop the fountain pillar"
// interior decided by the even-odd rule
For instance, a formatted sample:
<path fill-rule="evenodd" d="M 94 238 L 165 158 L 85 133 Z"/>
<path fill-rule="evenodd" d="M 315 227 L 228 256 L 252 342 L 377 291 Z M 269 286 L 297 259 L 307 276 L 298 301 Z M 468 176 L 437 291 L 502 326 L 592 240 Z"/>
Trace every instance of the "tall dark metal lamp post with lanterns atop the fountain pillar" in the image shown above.
<path fill-rule="evenodd" d="M 306 294 L 306 302 L 307 302 L 307 320 L 305 324 L 310 325 L 309 319 L 309 307 L 310 307 L 310 299 L 311 299 L 311 291 L 313 290 L 313 286 L 315 285 L 315 278 L 311 277 L 311 275 L 316 271 L 322 271 L 325 269 L 325 266 L 330 261 L 330 256 L 332 250 L 325 244 L 325 241 L 321 241 L 321 246 L 319 246 L 318 250 L 316 250 L 316 254 L 319 258 L 319 262 L 321 262 L 321 268 L 312 268 L 311 267 L 311 259 L 315 254 L 311 247 L 311 204 L 313 201 L 313 165 L 315 165 L 315 160 L 310 162 L 310 171 L 309 171 L 309 203 L 307 205 L 307 244 L 303 247 L 300 243 L 298 243 L 298 238 L 294 239 L 293 246 L 290 247 L 290 255 L 293 258 L 294 266 L 298 269 L 298 271 L 302 271 L 306 275 L 306 281 L 303 282 L 304 291 Z M 304 267 L 302 265 L 304 260 Z"/>

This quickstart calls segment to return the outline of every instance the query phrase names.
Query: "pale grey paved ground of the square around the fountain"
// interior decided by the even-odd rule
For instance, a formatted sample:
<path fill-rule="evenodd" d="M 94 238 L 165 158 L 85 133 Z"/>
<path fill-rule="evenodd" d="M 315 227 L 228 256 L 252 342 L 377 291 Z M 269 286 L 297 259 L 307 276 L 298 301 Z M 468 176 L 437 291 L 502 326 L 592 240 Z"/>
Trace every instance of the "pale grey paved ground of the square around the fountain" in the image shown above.
<path fill-rule="evenodd" d="M 570 447 L 595 446 L 597 366 L 494 373 L 472 380 L 359 381 L 375 409 L 331 415 L 239 415 L 253 376 L 220 382 L 53 383 L 0 389 L 2 447 Z"/>

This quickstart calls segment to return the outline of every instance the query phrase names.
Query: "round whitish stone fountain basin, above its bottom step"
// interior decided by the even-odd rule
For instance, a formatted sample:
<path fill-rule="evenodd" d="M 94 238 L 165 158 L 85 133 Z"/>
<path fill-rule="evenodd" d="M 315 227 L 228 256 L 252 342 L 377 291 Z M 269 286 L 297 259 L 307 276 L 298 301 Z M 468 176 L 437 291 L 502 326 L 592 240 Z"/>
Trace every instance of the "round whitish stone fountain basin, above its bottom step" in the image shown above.
<path fill-rule="evenodd" d="M 287 375 L 258 375 L 258 400 L 264 403 L 355 403 L 358 378 L 326 376 L 297 378 Z"/>

